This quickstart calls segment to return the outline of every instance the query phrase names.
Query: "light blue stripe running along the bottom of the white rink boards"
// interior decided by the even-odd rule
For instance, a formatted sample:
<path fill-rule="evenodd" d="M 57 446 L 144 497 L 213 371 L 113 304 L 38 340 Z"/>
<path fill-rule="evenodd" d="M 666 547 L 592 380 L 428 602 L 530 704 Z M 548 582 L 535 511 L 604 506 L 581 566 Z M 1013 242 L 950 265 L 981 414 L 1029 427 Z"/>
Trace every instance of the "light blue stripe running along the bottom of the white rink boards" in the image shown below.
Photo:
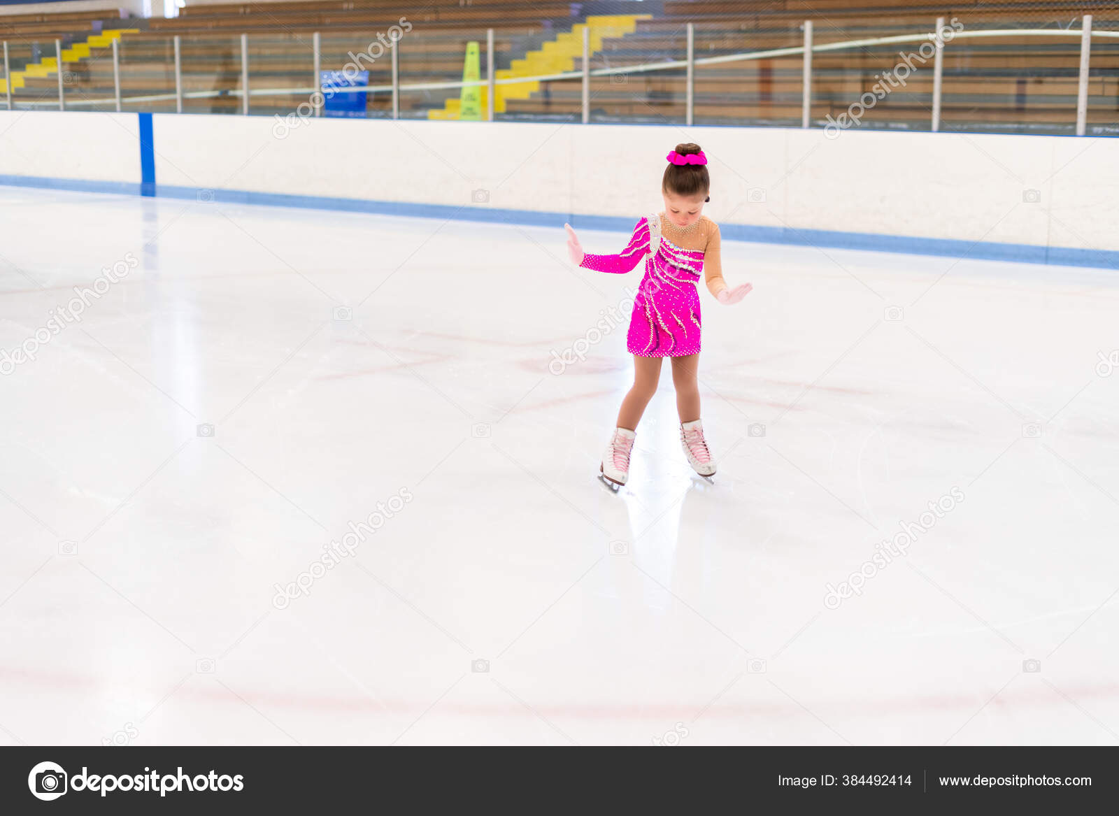
<path fill-rule="evenodd" d="M 150 142 L 149 142 L 150 144 Z M 152 171 L 152 177 L 154 171 Z M 215 201 L 220 204 L 263 205 L 272 207 L 299 207 L 326 209 L 344 213 L 369 213 L 375 215 L 408 216 L 419 218 L 442 218 L 451 221 L 473 221 L 490 224 L 518 224 L 528 226 L 558 227 L 564 222 L 584 229 L 603 229 L 629 233 L 637 217 L 608 215 L 581 215 L 572 213 L 535 212 L 529 209 L 500 209 L 485 204 L 412 204 L 406 201 L 378 201 L 363 198 L 333 198 L 326 196 L 297 196 L 279 193 L 254 193 L 252 190 L 205 189 L 151 185 L 151 193 L 137 189 L 134 184 L 120 181 L 85 181 L 81 179 L 56 179 L 35 176 L 2 176 L 0 185 L 12 187 L 38 187 L 44 189 L 73 190 L 78 193 L 112 193 L 154 195 L 160 198 Z M 958 241 L 952 238 L 925 238 L 910 235 L 883 235 L 881 233 L 855 233 L 831 229 L 797 229 L 792 227 L 750 226 L 745 224 L 721 224 L 720 232 L 730 241 L 753 241 L 767 244 L 793 246 L 818 246 L 843 250 L 869 250 L 911 255 L 938 255 L 946 257 L 970 257 L 981 261 L 1017 261 L 1019 263 L 1055 264 L 1062 266 L 1093 266 L 1119 270 L 1119 251 L 1081 250 L 1063 246 L 1035 246 L 1032 244 L 1004 244 L 996 242 Z"/>

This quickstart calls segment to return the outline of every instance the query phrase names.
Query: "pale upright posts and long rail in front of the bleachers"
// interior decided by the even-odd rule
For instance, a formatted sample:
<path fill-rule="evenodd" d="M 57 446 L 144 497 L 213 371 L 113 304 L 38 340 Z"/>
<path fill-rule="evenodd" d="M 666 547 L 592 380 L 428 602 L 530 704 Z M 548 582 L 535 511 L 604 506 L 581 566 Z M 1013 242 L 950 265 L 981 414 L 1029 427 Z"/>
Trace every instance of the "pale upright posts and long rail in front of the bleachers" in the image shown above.
<path fill-rule="evenodd" d="M 591 68 L 591 49 L 590 49 L 590 29 L 583 28 L 583 67 L 581 71 L 570 71 L 558 74 L 540 74 L 536 76 L 517 76 L 509 77 L 506 79 L 497 79 L 493 76 L 495 68 L 495 49 L 493 49 L 493 29 L 487 29 L 486 32 L 486 47 L 487 47 L 487 77 L 486 79 L 477 81 L 463 81 L 463 82 L 426 82 L 426 83 L 410 83 L 401 84 L 399 81 L 399 56 L 398 56 L 398 43 L 394 43 L 394 47 L 389 48 L 392 55 L 392 83 L 388 85 L 352 85 L 352 86 L 326 86 L 319 83 L 321 76 L 321 53 L 320 53 L 320 34 L 318 31 L 312 35 L 312 50 L 313 50 L 313 62 L 314 62 L 314 74 L 312 82 L 314 84 L 300 87 L 281 87 L 281 88 L 258 88 L 252 90 L 250 87 L 250 65 L 248 65 L 248 35 L 241 35 L 241 88 L 233 88 L 228 91 L 194 91 L 184 92 L 182 91 L 182 65 L 181 65 L 181 40 L 179 36 L 173 37 L 175 45 L 175 93 L 166 94 L 152 94 L 147 96 L 129 96 L 126 99 L 121 97 L 121 68 L 120 68 L 120 48 L 117 40 L 113 40 L 113 85 L 114 85 L 114 96 L 113 99 L 81 99 L 67 101 L 63 81 L 63 45 L 62 40 L 55 40 L 55 53 L 58 59 L 58 100 L 50 102 L 21 102 L 21 105 L 28 106 L 39 106 L 39 107 L 54 107 L 57 105 L 59 111 L 67 110 L 69 107 L 78 107 L 85 105 L 105 105 L 114 104 L 117 112 L 122 110 L 123 102 L 129 104 L 138 102 L 169 102 L 175 100 L 176 112 L 182 113 L 182 101 L 187 99 L 211 99 L 217 96 L 239 96 L 242 100 L 241 112 L 244 115 L 248 115 L 248 103 L 252 96 L 286 96 L 291 94 L 309 94 L 313 97 L 314 94 L 320 94 L 318 103 L 311 104 L 313 107 L 313 115 L 319 116 L 322 113 L 322 92 L 327 91 L 329 93 L 368 93 L 368 92 L 392 92 L 393 99 L 393 111 L 392 118 L 399 119 L 401 114 L 401 92 L 410 91 L 438 91 L 438 90 L 453 90 L 463 87 L 478 87 L 486 86 L 489 88 L 487 96 L 487 119 L 489 121 L 493 120 L 493 100 L 495 100 L 495 88 L 497 85 L 514 85 L 523 84 L 526 82 L 547 82 L 556 79 L 582 79 L 583 83 L 583 95 L 582 95 L 582 121 L 583 123 L 590 122 L 591 119 L 591 77 L 598 76 L 612 76 L 612 75 L 628 75 L 628 74 L 641 74 L 651 73 L 657 71 L 671 71 L 676 68 L 686 69 L 686 94 L 685 94 L 685 122 L 690 125 L 694 123 L 695 113 L 695 68 L 696 66 L 704 65 L 724 65 L 728 63 L 744 63 L 754 59 L 771 59 L 773 57 L 788 57 L 796 56 L 798 54 L 803 55 L 803 93 L 801 101 L 801 128 L 808 128 L 810 125 L 810 113 L 812 105 L 812 55 L 821 54 L 827 51 L 841 51 L 850 50 L 854 48 L 864 48 L 866 46 L 876 45 L 890 45 L 890 44 L 902 44 L 902 43 L 932 43 L 935 48 L 934 63 L 933 63 L 933 91 L 932 91 L 932 116 L 930 121 L 931 130 L 940 130 L 940 110 L 941 110 L 941 95 L 942 95 L 942 71 L 943 71 L 943 51 L 944 41 L 941 32 L 944 31 L 944 18 L 937 18 L 937 30 L 931 34 L 920 34 L 920 35 L 896 35 L 891 37 L 871 37 L 864 39 L 850 39 L 839 43 L 821 43 L 815 44 L 812 41 L 812 21 L 805 20 L 803 26 L 803 45 L 790 46 L 787 48 L 773 48 L 769 50 L 760 51 L 743 51 L 740 54 L 727 54 L 717 57 L 703 57 L 696 59 L 695 57 L 695 24 L 687 24 L 687 57 L 685 59 L 676 59 L 671 62 L 658 62 L 648 63 L 645 65 L 630 65 L 619 68 Z M 1079 83 L 1076 88 L 1076 135 L 1084 135 L 1087 130 L 1088 121 L 1088 75 L 1089 75 L 1089 63 L 1091 59 L 1091 43 L 1092 37 L 1101 38 L 1112 38 L 1119 39 L 1119 31 L 1101 31 L 1092 30 L 1092 16 L 1084 15 L 1081 18 L 1081 28 L 1078 29 L 988 29 L 978 31 L 953 31 L 951 39 L 986 39 L 986 38 L 997 38 L 997 37 L 1079 37 L 1080 38 L 1080 74 Z M 4 79 L 7 81 L 11 71 L 9 67 L 9 56 L 8 56 L 8 43 L 3 43 L 3 68 L 4 68 Z M 12 87 L 11 82 L 6 82 L 8 87 L 7 102 L 8 110 L 15 110 L 12 104 Z"/>

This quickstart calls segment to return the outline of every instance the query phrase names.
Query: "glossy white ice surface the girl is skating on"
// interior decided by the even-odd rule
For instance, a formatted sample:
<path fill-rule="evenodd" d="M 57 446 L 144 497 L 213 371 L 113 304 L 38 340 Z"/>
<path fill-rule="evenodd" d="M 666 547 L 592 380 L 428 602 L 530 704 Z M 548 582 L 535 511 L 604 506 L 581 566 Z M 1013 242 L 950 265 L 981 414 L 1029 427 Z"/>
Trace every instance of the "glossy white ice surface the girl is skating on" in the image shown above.
<path fill-rule="evenodd" d="M 562 224 L 0 206 L 0 743 L 1119 742 L 1116 271 L 726 241 L 613 496 Z"/>

